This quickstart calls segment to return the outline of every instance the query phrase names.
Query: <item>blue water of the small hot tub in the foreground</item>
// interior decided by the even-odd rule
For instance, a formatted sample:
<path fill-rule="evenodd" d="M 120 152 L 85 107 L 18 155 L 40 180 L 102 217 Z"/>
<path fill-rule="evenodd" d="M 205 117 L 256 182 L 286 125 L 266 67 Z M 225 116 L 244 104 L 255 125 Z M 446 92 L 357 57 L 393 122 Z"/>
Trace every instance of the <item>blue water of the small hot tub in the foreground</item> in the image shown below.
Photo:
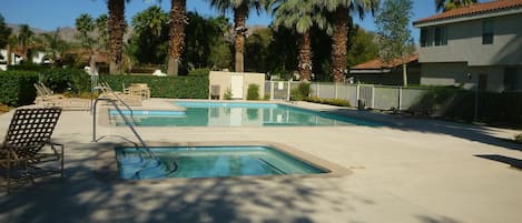
<path fill-rule="evenodd" d="M 121 179 L 321 174 L 329 171 L 269 146 L 116 148 Z"/>

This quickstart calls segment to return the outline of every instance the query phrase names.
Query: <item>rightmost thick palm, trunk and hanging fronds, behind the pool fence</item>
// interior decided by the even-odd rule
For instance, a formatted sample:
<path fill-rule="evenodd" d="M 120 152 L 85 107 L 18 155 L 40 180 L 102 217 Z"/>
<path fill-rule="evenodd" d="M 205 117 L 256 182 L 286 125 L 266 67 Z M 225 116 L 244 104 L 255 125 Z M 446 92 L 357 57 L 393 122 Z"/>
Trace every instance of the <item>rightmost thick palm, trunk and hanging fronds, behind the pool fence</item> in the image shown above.
<path fill-rule="evenodd" d="M 332 74 L 334 82 L 343 83 L 346 80 L 348 22 L 351 13 L 358 12 L 361 19 L 367 11 L 372 13 L 378 7 L 378 0 L 329 0 L 317 1 L 331 12 L 333 17 L 334 34 L 332 36 Z"/>

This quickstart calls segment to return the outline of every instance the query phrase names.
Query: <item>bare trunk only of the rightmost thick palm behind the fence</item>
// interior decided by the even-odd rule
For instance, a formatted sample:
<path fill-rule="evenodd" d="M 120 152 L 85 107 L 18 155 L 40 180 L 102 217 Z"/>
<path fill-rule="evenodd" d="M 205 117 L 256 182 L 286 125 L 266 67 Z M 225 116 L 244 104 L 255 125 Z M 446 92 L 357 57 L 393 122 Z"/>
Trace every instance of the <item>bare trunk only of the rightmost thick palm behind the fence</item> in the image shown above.
<path fill-rule="evenodd" d="M 346 80 L 346 42 L 348 41 L 348 8 L 339 7 L 334 13 L 334 36 L 332 37 L 332 68 L 334 82 Z"/>

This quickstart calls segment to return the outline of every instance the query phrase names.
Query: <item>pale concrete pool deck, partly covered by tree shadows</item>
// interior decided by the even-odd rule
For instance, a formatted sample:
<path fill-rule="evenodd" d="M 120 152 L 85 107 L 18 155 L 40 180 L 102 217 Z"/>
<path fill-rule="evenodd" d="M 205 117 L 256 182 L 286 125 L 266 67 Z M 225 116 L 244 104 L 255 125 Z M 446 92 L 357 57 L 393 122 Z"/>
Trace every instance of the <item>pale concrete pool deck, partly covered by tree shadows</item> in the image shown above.
<path fill-rule="evenodd" d="M 168 109 L 168 101 L 152 99 Z M 297 107 L 382 120 L 390 126 L 138 128 L 146 142 L 273 142 L 352 173 L 337 178 L 112 181 L 115 144 L 128 128 L 65 111 L 53 140 L 66 144 L 66 179 L 0 195 L 0 222 L 418 222 L 522 220 L 522 145 L 516 131 L 401 118 L 299 102 Z M 12 111 L 0 115 L 1 136 Z M 122 138 L 121 138 L 122 136 Z M 100 171 L 101 170 L 101 171 Z"/>

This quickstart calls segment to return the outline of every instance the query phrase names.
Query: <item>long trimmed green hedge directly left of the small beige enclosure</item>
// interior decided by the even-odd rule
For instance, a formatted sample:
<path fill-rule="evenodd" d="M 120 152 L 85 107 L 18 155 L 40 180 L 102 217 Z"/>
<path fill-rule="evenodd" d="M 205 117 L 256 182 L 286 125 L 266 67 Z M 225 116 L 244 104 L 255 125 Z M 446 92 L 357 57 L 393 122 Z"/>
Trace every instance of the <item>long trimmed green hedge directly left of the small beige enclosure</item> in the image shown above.
<path fill-rule="evenodd" d="M 208 77 L 101 75 L 100 80 L 115 91 L 121 91 L 124 84 L 147 83 L 154 98 L 208 99 Z"/>

